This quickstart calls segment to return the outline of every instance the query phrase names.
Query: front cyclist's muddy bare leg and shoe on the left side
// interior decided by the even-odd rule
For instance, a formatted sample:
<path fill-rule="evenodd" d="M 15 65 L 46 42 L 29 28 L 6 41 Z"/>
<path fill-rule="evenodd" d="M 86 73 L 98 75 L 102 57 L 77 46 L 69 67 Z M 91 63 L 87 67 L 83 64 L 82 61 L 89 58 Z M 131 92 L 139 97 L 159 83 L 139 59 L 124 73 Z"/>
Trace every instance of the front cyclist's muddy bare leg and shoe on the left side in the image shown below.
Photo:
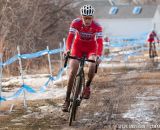
<path fill-rule="evenodd" d="M 71 95 L 71 91 L 72 91 L 74 78 L 77 74 L 79 61 L 74 60 L 74 59 L 70 59 L 69 65 L 70 65 L 69 66 L 69 79 L 68 79 L 68 83 L 67 83 L 66 98 L 65 98 L 65 102 L 62 107 L 62 111 L 64 111 L 64 112 L 68 112 L 68 107 L 70 104 L 70 95 Z"/>

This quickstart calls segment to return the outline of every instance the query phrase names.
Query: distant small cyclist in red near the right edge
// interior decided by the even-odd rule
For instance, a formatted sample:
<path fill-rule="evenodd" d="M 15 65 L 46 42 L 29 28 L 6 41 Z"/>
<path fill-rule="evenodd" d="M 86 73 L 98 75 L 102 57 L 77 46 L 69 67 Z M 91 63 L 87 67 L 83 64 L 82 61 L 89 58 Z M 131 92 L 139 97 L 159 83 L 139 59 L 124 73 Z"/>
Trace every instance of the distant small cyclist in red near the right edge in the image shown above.
<path fill-rule="evenodd" d="M 147 38 L 147 41 L 149 43 L 149 57 L 150 58 L 158 56 L 156 52 L 155 38 L 157 39 L 157 42 L 159 43 L 159 38 L 156 32 L 152 30 L 152 32 L 149 33 L 148 38 Z"/>

